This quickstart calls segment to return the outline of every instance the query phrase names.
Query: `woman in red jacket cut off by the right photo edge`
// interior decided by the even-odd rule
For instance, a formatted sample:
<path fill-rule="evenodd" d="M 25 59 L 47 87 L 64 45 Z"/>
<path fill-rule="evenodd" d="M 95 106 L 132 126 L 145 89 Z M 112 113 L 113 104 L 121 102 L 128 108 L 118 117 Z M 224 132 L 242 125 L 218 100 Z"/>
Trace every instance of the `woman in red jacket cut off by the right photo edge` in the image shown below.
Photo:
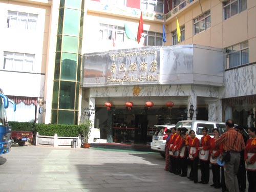
<path fill-rule="evenodd" d="M 247 140 L 244 152 L 247 180 L 249 182 L 248 192 L 256 191 L 256 129 L 248 129 L 250 139 Z"/>

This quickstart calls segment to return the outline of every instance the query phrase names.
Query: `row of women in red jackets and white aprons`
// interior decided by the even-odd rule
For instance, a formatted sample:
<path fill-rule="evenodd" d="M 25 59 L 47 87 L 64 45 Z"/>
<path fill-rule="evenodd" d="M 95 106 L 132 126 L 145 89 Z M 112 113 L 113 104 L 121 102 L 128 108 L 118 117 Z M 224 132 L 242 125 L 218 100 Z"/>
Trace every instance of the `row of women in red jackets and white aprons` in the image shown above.
<path fill-rule="evenodd" d="M 188 164 L 190 164 L 190 173 L 188 179 L 194 181 L 194 183 L 209 183 L 210 165 L 212 170 L 212 182 L 210 186 L 215 188 L 222 188 L 222 191 L 230 191 L 229 186 L 225 184 L 224 168 L 218 164 L 218 158 L 223 153 L 223 145 L 225 143 L 215 142 L 220 138 L 219 130 L 213 129 L 211 138 L 208 135 L 208 130 L 204 127 L 201 132 L 203 136 L 200 140 L 196 137 L 193 130 L 189 131 L 187 135 L 187 129 L 185 127 L 177 128 L 172 127 L 170 130 L 166 130 L 168 135 L 165 144 L 165 168 L 164 170 L 179 175 L 180 177 L 187 177 Z M 246 189 L 246 176 L 245 167 L 247 170 L 247 179 L 249 182 L 248 191 L 256 191 L 256 135 L 255 128 L 248 129 L 249 137 L 251 137 L 243 148 L 242 153 L 244 157 L 241 158 L 241 163 L 244 164 L 244 168 L 240 165 L 239 190 L 245 191 Z M 236 142 L 236 141 L 232 141 Z M 218 143 L 218 144 L 217 144 Z M 231 152 L 232 153 L 232 152 Z M 220 161 L 220 160 L 219 160 Z M 198 181 L 198 164 L 200 162 L 201 179 Z M 249 165 L 249 168 L 248 168 Z M 237 173 L 235 173 L 237 174 Z M 244 175 L 244 176 L 243 176 Z M 225 175 L 226 176 L 226 175 Z M 239 178 L 240 177 L 240 178 Z M 229 183 L 227 183 L 229 185 Z M 234 190 L 237 192 L 237 190 Z"/>

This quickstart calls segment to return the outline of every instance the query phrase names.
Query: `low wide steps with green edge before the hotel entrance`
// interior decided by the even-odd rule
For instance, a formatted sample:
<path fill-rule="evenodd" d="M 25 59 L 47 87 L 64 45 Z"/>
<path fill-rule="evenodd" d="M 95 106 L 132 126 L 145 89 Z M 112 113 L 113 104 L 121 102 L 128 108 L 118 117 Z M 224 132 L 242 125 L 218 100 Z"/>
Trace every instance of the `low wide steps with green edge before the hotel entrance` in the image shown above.
<path fill-rule="evenodd" d="M 151 150 L 150 145 L 126 144 L 126 143 L 91 143 L 90 147 L 110 148 L 114 150 L 130 150 L 140 152 L 156 152 Z"/>

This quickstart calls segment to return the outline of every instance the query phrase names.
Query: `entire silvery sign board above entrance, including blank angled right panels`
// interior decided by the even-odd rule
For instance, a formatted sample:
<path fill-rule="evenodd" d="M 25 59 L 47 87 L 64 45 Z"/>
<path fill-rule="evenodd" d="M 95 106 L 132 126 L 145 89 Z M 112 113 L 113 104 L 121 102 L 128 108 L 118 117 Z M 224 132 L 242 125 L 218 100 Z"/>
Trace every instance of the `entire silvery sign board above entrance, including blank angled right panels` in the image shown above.
<path fill-rule="evenodd" d="M 152 46 L 83 55 L 82 87 L 197 84 L 223 87 L 224 50 Z"/>

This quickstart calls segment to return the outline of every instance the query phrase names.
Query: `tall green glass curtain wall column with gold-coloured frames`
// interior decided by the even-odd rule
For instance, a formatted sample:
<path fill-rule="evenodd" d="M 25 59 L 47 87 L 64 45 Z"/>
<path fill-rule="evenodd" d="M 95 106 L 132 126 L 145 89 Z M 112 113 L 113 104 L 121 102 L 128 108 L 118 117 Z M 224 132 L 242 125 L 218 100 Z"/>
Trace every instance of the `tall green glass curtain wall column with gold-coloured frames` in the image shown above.
<path fill-rule="evenodd" d="M 60 0 L 52 124 L 77 124 L 84 0 Z"/>

